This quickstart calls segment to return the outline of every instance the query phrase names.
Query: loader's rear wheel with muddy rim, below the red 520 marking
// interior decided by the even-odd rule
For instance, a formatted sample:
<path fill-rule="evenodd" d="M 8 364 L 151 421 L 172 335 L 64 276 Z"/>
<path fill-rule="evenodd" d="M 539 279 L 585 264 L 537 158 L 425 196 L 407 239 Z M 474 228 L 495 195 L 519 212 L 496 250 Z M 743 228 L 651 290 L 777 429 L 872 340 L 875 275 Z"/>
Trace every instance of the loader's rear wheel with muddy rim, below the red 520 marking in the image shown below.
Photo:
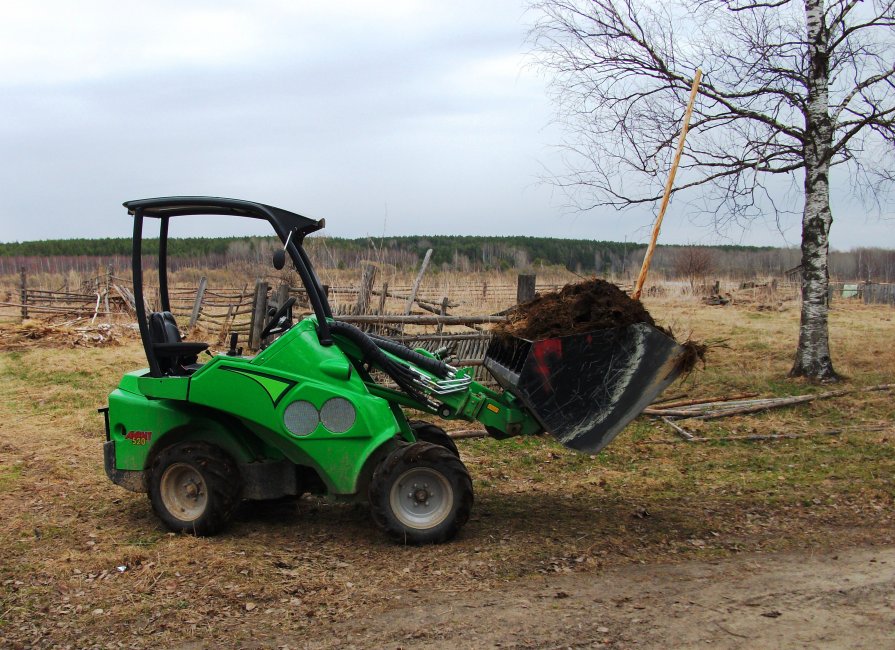
<path fill-rule="evenodd" d="M 214 535 L 239 505 L 242 482 L 236 463 L 207 442 L 162 449 L 149 470 L 149 501 L 176 533 Z"/>

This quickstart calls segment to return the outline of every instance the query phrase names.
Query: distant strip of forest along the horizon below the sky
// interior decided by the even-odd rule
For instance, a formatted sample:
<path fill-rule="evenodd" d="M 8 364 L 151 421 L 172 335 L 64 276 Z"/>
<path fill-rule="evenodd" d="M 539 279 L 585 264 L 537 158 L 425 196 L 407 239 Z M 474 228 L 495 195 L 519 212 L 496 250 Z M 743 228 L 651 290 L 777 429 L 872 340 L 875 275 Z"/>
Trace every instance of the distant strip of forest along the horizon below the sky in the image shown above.
<path fill-rule="evenodd" d="M 172 268 L 219 268 L 234 264 L 267 264 L 279 242 L 272 237 L 171 238 Z M 625 277 L 636 273 L 645 244 L 557 239 L 550 237 L 404 236 L 343 239 L 311 236 L 305 241 L 321 268 L 356 268 L 372 261 L 400 270 L 416 267 L 431 248 L 435 270 L 475 272 L 564 267 L 582 275 Z M 97 263 L 127 265 L 129 238 L 57 239 L 0 243 L 0 273 L 29 270 L 85 270 Z M 158 253 L 158 239 L 145 239 L 143 253 Z M 653 269 L 669 277 L 782 276 L 798 266 L 795 248 L 756 246 L 661 245 Z M 37 268 L 34 268 L 36 265 Z M 858 248 L 830 255 L 830 274 L 840 280 L 895 281 L 895 250 Z"/>

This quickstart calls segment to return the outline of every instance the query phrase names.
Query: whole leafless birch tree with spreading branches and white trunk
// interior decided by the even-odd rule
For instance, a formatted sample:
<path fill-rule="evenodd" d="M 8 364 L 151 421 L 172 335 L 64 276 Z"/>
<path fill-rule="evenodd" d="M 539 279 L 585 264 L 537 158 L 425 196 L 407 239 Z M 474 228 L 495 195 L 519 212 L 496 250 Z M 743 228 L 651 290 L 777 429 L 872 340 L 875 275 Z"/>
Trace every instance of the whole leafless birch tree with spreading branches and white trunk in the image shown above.
<path fill-rule="evenodd" d="M 831 168 L 881 201 L 895 178 L 895 0 L 541 0 L 532 35 L 552 75 L 578 207 L 654 205 L 697 67 L 675 192 L 724 226 L 774 211 L 801 181 L 802 311 L 790 372 L 835 380 L 827 327 Z"/>

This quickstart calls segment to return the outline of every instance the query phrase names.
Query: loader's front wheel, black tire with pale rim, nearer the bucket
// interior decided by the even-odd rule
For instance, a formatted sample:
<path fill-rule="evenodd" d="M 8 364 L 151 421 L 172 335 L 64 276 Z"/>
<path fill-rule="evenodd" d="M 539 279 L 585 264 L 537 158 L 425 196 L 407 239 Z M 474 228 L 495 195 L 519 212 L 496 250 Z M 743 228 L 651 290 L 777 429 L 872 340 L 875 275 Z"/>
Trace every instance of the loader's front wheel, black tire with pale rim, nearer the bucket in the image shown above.
<path fill-rule="evenodd" d="M 472 480 L 466 466 L 444 447 L 405 445 L 386 456 L 370 482 L 373 520 L 403 544 L 439 544 L 469 519 Z"/>

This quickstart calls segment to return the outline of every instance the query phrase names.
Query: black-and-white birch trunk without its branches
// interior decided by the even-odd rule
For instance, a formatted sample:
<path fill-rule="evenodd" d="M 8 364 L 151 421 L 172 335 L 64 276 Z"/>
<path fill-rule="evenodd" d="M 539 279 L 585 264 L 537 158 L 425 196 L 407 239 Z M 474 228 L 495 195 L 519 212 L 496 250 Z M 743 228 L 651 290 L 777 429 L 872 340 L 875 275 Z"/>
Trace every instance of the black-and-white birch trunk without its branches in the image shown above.
<path fill-rule="evenodd" d="M 824 0 L 805 0 L 808 92 L 805 110 L 805 211 L 802 215 L 802 313 L 799 346 L 790 376 L 838 379 L 830 358 L 827 287 L 830 249 L 830 158 L 833 123 L 829 102 L 829 31 Z"/>

